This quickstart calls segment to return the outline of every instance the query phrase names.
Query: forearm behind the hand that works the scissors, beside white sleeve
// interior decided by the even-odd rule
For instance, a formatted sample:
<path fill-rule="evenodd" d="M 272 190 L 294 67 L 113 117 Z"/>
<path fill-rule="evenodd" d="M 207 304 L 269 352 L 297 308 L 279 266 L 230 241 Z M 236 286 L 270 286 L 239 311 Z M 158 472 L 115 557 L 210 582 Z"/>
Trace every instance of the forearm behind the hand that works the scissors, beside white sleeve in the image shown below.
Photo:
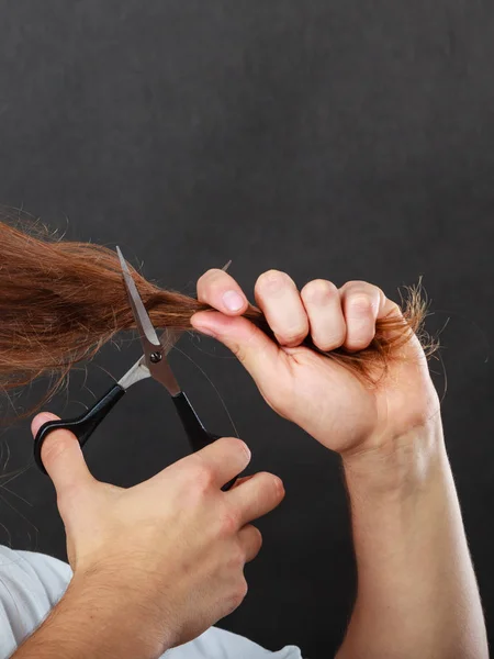
<path fill-rule="evenodd" d="M 137 597 L 89 581 L 69 584 L 12 659 L 156 659 L 168 649 L 139 623 L 145 616 Z"/>

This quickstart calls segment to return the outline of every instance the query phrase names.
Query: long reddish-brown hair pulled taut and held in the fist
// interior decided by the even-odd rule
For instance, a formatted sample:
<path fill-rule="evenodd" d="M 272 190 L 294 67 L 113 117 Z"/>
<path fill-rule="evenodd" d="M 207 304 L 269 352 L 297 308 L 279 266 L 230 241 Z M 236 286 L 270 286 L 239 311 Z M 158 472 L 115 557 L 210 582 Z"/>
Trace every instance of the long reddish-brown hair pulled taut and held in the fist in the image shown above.
<path fill-rule="evenodd" d="M 190 317 L 211 309 L 197 299 L 165 290 L 131 269 L 156 327 L 192 331 Z M 375 366 L 385 371 L 398 348 L 416 333 L 430 355 L 436 343 L 424 331 L 427 304 L 420 284 L 407 288 L 404 320 L 377 324 L 371 345 L 359 353 L 324 353 L 373 382 Z M 244 314 L 266 334 L 272 332 L 259 309 Z M 53 394 L 69 369 L 92 358 L 116 333 L 134 327 L 116 254 L 92 243 L 57 239 L 38 224 L 0 221 L 0 387 L 14 389 L 52 376 Z M 311 338 L 304 345 L 321 353 Z"/>

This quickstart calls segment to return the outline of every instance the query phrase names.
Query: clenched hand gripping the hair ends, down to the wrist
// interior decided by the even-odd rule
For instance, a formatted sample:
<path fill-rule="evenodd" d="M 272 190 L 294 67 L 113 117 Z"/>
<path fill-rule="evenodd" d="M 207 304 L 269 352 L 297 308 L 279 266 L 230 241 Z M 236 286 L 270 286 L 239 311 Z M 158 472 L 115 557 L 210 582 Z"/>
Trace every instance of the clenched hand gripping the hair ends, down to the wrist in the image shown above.
<path fill-rule="evenodd" d="M 375 386 L 300 345 L 311 334 L 325 351 L 367 348 L 379 319 L 402 315 L 382 290 L 364 281 L 337 289 L 315 279 L 299 291 L 289 275 L 269 270 L 258 278 L 255 298 L 277 342 L 242 317 L 247 299 L 233 277 L 218 269 L 198 282 L 198 299 L 217 312 L 198 312 L 191 323 L 238 357 L 278 414 L 324 446 L 344 458 L 377 447 L 392 449 L 397 437 L 439 421 L 438 396 L 415 335 Z"/>

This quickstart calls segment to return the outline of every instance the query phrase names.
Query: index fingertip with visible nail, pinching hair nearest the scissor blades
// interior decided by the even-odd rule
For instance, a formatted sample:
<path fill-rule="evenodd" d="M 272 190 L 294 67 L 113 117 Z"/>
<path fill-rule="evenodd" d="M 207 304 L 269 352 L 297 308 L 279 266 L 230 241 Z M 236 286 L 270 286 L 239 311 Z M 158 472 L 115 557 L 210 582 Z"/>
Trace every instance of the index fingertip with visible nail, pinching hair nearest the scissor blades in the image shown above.
<path fill-rule="evenodd" d="M 242 315 L 248 306 L 247 298 L 235 279 L 217 268 L 199 278 L 198 300 L 228 315 Z"/>

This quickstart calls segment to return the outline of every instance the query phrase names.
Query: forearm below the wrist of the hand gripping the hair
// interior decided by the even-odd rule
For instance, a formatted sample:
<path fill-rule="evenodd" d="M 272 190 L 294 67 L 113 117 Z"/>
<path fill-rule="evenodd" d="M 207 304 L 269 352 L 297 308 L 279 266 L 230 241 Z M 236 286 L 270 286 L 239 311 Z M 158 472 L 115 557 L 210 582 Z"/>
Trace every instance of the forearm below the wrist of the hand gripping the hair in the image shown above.
<path fill-rule="evenodd" d="M 479 590 L 439 424 L 345 462 L 358 593 L 338 659 L 484 659 Z"/>

